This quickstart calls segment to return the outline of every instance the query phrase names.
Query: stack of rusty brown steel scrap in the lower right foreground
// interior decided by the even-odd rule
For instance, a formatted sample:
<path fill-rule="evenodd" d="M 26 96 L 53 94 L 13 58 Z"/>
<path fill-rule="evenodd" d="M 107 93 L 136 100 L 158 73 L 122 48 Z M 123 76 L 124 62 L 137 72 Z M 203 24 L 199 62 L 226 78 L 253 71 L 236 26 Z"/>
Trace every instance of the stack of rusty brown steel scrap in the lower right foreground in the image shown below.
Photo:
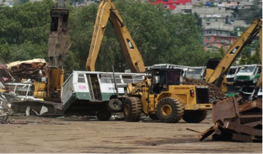
<path fill-rule="evenodd" d="M 241 99 L 236 95 L 213 104 L 215 125 L 200 134 L 200 141 L 212 134 L 213 140 L 262 142 L 262 98 L 245 103 Z"/>

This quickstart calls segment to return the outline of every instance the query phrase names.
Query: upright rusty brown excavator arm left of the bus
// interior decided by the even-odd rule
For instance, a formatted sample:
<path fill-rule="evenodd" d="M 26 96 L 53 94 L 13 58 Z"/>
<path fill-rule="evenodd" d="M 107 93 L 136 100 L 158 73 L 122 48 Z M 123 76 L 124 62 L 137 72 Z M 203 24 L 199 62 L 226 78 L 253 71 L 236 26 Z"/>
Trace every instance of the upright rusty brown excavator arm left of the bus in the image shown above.
<path fill-rule="evenodd" d="M 50 10 L 47 98 L 60 97 L 61 87 L 64 82 L 63 63 L 65 54 L 71 46 L 68 28 L 70 10 L 68 10 L 64 2 L 65 0 L 58 0 L 56 6 L 53 6 Z"/>

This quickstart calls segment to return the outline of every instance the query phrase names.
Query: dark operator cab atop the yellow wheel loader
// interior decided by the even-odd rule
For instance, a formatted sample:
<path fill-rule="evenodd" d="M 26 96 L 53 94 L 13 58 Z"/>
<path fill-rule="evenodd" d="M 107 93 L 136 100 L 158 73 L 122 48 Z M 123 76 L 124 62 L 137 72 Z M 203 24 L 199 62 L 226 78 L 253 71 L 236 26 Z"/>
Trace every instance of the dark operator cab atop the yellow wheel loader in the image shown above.
<path fill-rule="evenodd" d="M 180 85 L 184 73 L 181 69 L 152 69 L 151 94 L 169 91 L 169 85 Z"/>

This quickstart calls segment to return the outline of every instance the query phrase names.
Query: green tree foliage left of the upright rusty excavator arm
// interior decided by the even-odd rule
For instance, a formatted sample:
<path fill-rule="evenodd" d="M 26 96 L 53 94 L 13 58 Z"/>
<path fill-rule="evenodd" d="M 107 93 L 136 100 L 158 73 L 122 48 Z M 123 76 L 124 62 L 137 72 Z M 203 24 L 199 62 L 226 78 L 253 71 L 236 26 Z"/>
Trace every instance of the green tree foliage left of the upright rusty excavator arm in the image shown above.
<path fill-rule="evenodd" d="M 5 62 L 47 57 L 49 11 L 53 5 L 53 1 L 44 0 L 0 7 L 0 44 L 8 50 Z"/>

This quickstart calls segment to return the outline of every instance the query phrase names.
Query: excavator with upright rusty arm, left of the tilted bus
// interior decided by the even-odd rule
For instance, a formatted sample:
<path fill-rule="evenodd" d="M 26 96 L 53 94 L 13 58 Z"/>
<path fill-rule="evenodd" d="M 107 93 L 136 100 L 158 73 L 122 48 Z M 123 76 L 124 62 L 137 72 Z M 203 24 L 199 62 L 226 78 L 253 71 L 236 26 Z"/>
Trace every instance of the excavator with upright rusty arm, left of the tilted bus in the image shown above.
<path fill-rule="evenodd" d="M 55 113 L 54 106 L 61 102 L 61 88 L 64 82 L 63 62 L 71 45 L 68 29 L 70 11 L 65 7 L 64 0 L 57 1 L 56 5 L 51 8 L 50 15 L 47 75 L 37 78 L 33 83 L 33 97 L 44 101 L 13 102 L 11 108 L 15 112 L 25 113 L 27 106 L 39 112 L 42 106 L 46 106 L 49 113 Z"/>

